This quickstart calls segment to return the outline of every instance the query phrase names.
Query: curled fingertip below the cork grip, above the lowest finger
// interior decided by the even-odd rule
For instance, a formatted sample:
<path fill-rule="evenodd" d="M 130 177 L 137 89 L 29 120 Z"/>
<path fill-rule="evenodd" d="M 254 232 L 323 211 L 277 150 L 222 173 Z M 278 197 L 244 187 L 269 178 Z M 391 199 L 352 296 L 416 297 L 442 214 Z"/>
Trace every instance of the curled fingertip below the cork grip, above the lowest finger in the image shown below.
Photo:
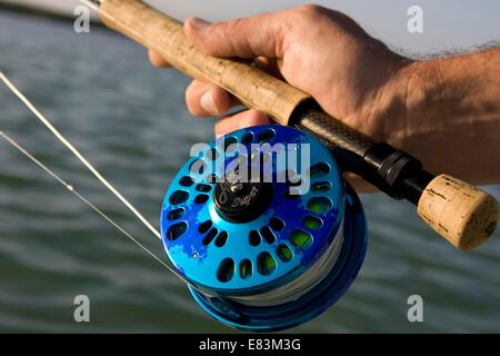
<path fill-rule="evenodd" d="M 193 80 L 186 90 L 186 105 L 193 116 L 218 116 L 238 105 L 238 101 L 216 85 Z"/>

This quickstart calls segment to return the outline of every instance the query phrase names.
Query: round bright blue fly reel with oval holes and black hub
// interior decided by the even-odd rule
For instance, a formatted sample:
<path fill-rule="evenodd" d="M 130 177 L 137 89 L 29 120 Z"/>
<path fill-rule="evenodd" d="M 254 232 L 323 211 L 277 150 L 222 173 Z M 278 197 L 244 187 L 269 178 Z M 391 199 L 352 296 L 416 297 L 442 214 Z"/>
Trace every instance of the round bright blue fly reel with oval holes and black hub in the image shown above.
<path fill-rule="evenodd" d="M 167 192 L 161 234 L 198 304 L 232 327 L 270 332 L 337 301 L 361 267 L 367 227 L 330 150 L 258 126 L 194 151 Z"/>

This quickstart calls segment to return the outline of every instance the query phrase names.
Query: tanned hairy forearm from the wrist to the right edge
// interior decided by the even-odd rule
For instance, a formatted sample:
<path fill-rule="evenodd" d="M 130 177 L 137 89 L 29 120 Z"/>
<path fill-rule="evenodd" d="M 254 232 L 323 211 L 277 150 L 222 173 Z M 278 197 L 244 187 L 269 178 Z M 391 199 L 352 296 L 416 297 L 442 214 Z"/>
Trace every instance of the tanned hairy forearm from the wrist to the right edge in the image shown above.
<path fill-rule="evenodd" d="M 434 174 L 500 182 L 500 49 L 412 62 L 392 88 L 391 144 Z"/>

